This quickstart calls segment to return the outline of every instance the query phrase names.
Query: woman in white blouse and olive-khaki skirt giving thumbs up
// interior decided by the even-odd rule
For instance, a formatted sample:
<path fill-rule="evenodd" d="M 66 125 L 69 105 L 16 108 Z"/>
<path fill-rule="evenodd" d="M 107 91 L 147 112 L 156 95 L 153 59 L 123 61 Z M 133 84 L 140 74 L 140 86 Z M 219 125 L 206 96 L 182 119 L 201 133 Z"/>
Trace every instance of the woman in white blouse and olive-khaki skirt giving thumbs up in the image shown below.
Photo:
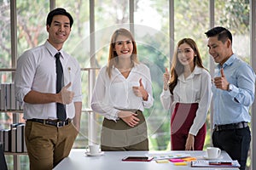
<path fill-rule="evenodd" d="M 148 66 L 138 62 L 131 32 L 113 33 L 108 65 L 102 67 L 91 98 L 93 111 L 102 114 L 102 150 L 148 150 L 144 108 L 153 105 Z"/>

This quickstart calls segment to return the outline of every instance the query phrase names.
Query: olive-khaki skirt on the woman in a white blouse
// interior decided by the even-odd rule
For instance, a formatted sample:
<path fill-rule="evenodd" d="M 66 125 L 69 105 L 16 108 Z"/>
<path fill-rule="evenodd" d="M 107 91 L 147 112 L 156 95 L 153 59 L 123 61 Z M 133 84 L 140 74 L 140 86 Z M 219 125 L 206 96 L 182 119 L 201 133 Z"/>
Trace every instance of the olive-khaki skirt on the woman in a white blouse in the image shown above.
<path fill-rule="evenodd" d="M 128 126 L 122 119 L 114 122 L 104 118 L 102 150 L 148 150 L 147 123 L 143 112 L 136 110 L 132 112 L 137 113 L 137 118 L 140 120 L 136 127 Z"/>

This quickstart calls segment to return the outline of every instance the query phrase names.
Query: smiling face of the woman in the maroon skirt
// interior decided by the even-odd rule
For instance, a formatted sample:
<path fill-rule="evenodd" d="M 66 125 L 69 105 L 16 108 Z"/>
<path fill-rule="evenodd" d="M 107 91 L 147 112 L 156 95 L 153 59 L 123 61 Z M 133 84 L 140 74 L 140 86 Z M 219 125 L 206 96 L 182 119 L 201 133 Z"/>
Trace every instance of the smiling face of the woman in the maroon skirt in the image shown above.
<path fill-rule="evenodd" d="M 194 68 L 194 57 L 195 52 L 188 43 L 182 43 L 177 48 L 177 59 L 182 65 Z"/>

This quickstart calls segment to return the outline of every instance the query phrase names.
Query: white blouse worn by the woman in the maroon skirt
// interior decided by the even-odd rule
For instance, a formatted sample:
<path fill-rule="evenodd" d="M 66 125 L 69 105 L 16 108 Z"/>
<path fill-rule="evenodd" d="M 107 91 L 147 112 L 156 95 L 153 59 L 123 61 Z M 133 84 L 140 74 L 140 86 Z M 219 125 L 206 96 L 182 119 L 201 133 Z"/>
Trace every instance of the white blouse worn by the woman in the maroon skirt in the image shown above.
<path fill-rule="evenodd" d="M 211 76 L 205 69 L 195 66 L 189 77 L 183 74 L 177 78 L 177 85 L 173 90 L 163 90 L 160 101 L 166 110 L 174 111 L 177 103 L 198 103 L 195 120 L 190 127 L 189 133 L 196 135 L 207 119 L 207 111 L 212 99 Z"/>

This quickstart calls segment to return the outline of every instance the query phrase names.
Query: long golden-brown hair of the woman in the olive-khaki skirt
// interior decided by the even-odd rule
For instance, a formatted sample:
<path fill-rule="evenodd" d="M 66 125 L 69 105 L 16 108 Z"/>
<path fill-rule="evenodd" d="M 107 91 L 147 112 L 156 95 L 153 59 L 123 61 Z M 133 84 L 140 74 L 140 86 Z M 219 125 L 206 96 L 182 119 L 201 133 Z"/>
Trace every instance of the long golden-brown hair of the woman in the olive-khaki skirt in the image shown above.
<path fill-rule="evenodd" d="M 134 37 L 132 36 L 130 31 L 126 30 L 125 28 L 119 28 L 118 30 L 113 32 L 113 36 L 111 38 L 111 42 L 110 42 L 110 46 L 109 46 L 108 65 L 107 65 L 108 77 L 111 77 L 111 71 L 112 71 L 113 65 L 116 66 L 119 61 L 118 54 L 114 50 L 114 46 L 115 46 L 117 37 L 120 35 L 131 38 L 131 42 L 133 44 L 133 51 L 131 54 L 132 66 L 134 66 L 134 63 L 139 63 L 138 58 L 137 58 L 137 45 L 136 45 Z"/>

